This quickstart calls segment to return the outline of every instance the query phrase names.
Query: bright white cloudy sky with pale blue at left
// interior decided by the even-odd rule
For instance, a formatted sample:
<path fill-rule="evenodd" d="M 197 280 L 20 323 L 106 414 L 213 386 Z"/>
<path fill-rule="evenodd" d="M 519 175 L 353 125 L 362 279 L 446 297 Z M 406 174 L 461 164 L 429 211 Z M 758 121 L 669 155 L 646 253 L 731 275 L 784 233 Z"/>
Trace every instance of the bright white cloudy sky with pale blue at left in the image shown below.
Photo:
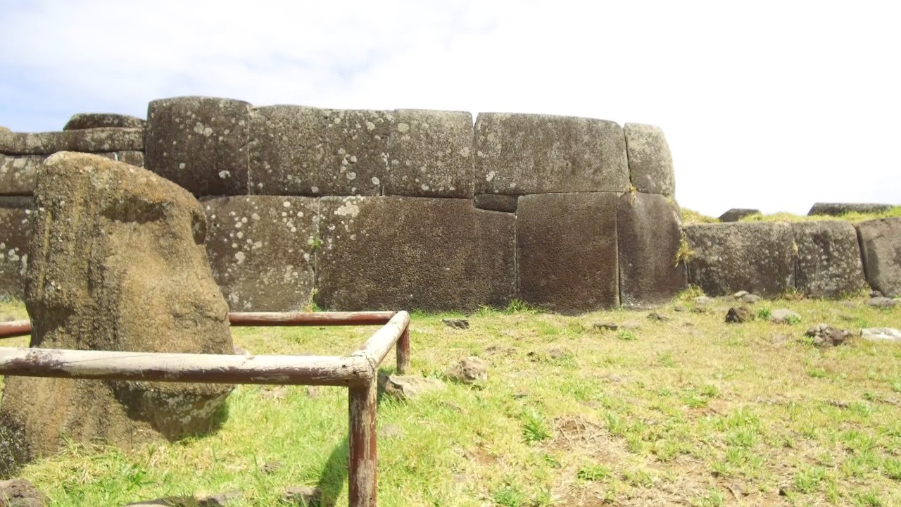
<path fill-rule="evenodd" d="M 901 204 L 896 4 L 0 0 L 0 125 L 183 95 L 576 115 L 659 125 L 714 217 Z"/>

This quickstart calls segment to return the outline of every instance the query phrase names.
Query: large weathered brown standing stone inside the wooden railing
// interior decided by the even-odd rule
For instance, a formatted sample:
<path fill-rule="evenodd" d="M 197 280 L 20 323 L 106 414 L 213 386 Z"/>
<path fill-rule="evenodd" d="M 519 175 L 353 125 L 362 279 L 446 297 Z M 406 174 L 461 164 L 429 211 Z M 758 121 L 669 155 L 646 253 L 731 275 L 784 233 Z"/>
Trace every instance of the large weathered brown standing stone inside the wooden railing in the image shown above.
<path fill-rule="evenodd" d="M 25 303 L 43 348 L 231 354 L 228 307 L 204 249 L 203 210 L 149 171 L 64 152 L 38 174 Z M 9 377 L 0 476 L 62 435 L 132 447 L 203 432 L 222 385 Z"/>

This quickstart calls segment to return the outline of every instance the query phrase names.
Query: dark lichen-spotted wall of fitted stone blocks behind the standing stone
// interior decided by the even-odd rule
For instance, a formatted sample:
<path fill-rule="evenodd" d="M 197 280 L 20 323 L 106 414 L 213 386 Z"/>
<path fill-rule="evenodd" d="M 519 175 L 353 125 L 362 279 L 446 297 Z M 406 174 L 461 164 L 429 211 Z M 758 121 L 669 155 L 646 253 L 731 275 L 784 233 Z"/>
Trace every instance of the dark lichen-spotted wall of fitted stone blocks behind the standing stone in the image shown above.
<path fill-rule="evenodd" d="M 659 304 L 688 281 L 833 296 L 864 272 L 848 272 L 847 227 L 683 230 L 669 146 L 651 125 L 175 97 L 151 102 L 146 123 L 76 115 L 59 133 L 0 129 L 0 295 L 21 297 L 34 168 L 63 150 L 144 166 L 200 198 L 214 276 L 235 310 L 518 299 L 573 313 Z M 685 241 L 688 269 L 677 262 Z M 836 274 L 828 259 L 839 253 L 848 263 Z"/>

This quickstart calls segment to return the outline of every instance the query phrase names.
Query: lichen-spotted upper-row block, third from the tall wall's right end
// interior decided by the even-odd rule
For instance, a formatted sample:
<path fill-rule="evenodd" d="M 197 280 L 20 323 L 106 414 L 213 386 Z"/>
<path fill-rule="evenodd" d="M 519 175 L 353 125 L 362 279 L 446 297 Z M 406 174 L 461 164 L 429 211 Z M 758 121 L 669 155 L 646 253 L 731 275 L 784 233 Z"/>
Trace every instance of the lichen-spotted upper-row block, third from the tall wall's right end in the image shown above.
<path fill-rule="evenodd" d="M 385 195 L 472 198 L 472 115 L 399 109 L 388 143 Z"/>

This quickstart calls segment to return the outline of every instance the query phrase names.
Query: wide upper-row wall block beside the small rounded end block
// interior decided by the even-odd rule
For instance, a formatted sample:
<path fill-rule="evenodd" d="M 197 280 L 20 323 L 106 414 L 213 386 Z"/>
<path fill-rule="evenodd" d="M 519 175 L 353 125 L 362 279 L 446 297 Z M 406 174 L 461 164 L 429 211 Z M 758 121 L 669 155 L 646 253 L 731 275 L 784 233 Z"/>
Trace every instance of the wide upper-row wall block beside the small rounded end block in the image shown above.
<path fill-rule="evenodd" d="M 623 129 L 590 118 L 480 113 L 475 174 L 478 194 L 622 192 Z"/>

